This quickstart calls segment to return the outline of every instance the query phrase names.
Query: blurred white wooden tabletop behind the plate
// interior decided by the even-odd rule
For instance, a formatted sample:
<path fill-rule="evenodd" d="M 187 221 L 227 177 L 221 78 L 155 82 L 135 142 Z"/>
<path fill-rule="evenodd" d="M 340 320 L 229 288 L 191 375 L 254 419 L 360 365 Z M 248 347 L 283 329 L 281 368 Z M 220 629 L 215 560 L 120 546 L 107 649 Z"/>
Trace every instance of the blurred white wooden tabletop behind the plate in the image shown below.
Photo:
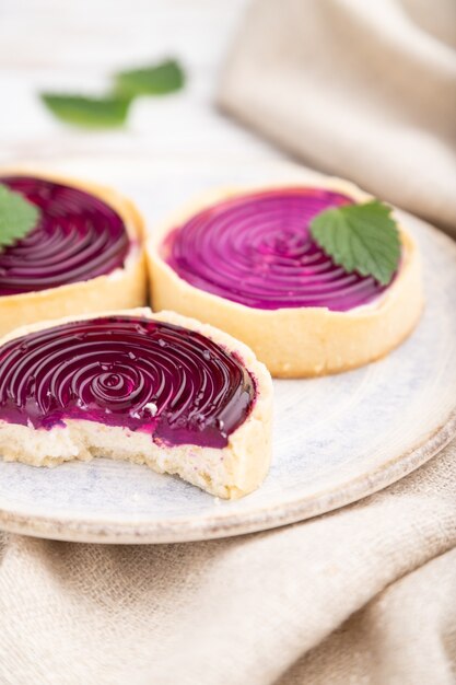
<path fill-rule="evenodd" d="M 0 0 L 0 163 L 135 153 L 219 160 L 280 156 L 212 106 L 246 0 Z M 133 104 L 125 130 L 56 121 L 37 92 L 101 93 L 109 73 L 176 56 L 185 91 Z"/>

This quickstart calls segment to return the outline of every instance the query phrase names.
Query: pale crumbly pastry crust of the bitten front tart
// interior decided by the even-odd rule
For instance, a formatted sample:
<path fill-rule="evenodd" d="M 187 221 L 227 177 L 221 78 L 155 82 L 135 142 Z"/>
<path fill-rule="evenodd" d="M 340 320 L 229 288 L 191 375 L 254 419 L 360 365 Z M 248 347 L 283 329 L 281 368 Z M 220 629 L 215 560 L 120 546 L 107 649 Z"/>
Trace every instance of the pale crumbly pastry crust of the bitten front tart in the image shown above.
<path fill-rule="evenodd" d="M 256 399 L 245 421 L 229 436 L 225 448 L 217 449 L 194 444 L 156 445 L 147 432 L 95 421 L 68 419 L 66 428 L 46 430 L 0 420 L 0 454 L 4 461 L 55 466 L 71 460 L 107 456 L 147 464 L 157 473 L 177 474 L 207 492 L 226 499 L 236 499 L 255 490 L 268 473 L 271 460 L 272 381 L 265 365 L 257 361 L 248 347 L 226 333 L 174 312 L 154 314 L 149 307 L 141 307 L 102 312 L 96 316 L 107 314 L 145 316 L 183 326 L 201 333 L 229 352 L 235 352 L 256 383 Z M 68 316 L 23 326 L 1 338 L 0 347 L 35 330 L 90 318 L 94 316 Z"/>

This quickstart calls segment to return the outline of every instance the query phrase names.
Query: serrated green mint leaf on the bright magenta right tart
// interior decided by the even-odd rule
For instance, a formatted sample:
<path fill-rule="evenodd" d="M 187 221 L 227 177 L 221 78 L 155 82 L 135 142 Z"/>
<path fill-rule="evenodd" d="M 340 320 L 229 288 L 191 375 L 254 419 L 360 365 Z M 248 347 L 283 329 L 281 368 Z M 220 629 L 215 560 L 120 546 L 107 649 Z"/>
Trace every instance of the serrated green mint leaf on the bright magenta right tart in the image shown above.
<path fill-rule="evenodd" d="M 311 221 L 314 240 L 346 271 L 387 286 L 399 265 L 400 239 L 391 208 L 379 200 L 326 209 Z"/>

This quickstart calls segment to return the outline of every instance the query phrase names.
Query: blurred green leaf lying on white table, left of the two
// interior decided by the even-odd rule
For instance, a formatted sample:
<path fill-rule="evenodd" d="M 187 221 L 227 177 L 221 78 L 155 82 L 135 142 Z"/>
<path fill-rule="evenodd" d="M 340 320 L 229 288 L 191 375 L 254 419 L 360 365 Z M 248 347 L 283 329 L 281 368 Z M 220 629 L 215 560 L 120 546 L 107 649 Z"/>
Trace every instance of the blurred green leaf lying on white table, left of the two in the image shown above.
<path fill-rule="evenodd" d="M 125 124 L 129 100 L 42 93 L 42 101 L 61 121 L 83 128 L 113 128 Z"/>

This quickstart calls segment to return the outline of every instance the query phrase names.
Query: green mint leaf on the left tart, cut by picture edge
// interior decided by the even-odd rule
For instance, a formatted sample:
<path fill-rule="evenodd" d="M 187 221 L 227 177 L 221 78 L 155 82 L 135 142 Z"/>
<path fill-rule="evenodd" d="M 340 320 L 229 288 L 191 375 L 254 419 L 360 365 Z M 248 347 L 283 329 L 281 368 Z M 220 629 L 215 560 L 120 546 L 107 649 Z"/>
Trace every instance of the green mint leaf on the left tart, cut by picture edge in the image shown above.
<path fill-rule="evenodd" d="M 25 237 L 36 227 L 40 216 L 36 205 L 0 183 L 0 249 Z"/>

